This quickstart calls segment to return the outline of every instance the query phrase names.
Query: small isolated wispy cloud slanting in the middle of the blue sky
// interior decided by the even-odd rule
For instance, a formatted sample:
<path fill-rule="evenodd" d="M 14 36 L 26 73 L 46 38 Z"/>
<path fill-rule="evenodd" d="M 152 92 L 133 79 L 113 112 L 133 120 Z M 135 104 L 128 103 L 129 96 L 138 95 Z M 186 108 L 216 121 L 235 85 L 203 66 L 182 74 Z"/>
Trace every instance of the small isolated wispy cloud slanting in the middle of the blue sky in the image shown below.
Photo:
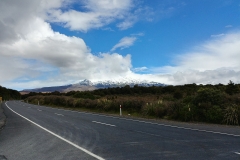
<path fill-rule="evenodd" d="M 134 42 L 137 40 L 136 37 L 123 37 L 113 48 L 111 51 L 115 51 L 116 49 L 124 49 L 132 46 Z"/>

